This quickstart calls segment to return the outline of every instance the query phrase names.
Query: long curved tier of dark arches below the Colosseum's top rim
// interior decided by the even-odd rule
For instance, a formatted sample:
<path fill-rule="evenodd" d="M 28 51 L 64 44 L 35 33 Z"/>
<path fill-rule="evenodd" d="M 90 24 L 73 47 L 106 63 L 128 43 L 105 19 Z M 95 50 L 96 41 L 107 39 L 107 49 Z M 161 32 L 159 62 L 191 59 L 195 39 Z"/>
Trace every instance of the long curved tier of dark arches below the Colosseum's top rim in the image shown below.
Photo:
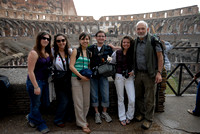
<path fill-rule="evenodd" d="M 150 26 L 154 27 L 159 35 L 171 34 L 200 34 L 200 14 L 179 16 L 163 19 L 146 20 Z M 119 22 L 56 22 L 56 21 L 30 21 L 21 19 L 0 18 L 0 36 L 35 36 L 39 31 L 46 30 L 52 35 L 57 33 L 79 34 L 88 32 L 95 34 L 99 29 L 103 29 L 108 34 L 115 35 L 135 35 L 134 26 L 138 20 Z"/>

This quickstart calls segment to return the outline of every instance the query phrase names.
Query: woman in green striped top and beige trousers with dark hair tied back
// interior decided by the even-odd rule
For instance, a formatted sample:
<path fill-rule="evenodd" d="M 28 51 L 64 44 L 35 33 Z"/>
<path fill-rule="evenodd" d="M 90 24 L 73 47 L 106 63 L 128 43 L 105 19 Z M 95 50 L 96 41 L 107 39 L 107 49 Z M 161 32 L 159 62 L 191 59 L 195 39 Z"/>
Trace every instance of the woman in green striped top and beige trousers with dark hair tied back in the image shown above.
<path fill-rule="evenodd" d="M 87 46 L 90 36 L 81 33 L 79 36 L 80 46 L 74 49 L 70 58 L 70 69 L 72 71 L 72 96 L 77 126 L 82 127 L 85 133 L 90 133 L 86 116 L 90 106 L 90 79 L 81 75 L 80 70 L 89 68 L 89 56 Z"/>

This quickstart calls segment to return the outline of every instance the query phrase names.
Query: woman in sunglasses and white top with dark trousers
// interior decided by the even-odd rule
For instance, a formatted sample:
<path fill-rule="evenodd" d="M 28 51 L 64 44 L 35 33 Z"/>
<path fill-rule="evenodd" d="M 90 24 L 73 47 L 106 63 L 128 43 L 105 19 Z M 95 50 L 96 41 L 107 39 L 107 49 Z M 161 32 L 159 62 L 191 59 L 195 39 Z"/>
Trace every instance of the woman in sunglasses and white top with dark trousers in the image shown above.
<path fill-rule="evenodd" d="M 54 75 L 57 73 L 64 74 L 61 78 L 54 79 L 56 98 L 58 100 L 54 124 L 58 127 L 64 127 L 65 116 L 72 116 L 71 111 L 73 109 L 71 93 L 71 70 L 69 69 L 69 61 L 72 50 L 69 49 L 69 42 L 66 35 L 60 33 L 54 36 L 52 53 L 54 56 Z"/>

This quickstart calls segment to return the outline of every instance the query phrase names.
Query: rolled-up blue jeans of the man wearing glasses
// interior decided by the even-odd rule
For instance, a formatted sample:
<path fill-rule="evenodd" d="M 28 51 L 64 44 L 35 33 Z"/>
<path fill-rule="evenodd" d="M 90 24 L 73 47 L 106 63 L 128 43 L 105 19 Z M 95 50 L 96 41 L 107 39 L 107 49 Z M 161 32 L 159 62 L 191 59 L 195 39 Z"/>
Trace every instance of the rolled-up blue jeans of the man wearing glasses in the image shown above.
<path fill-rule="evenodd" d="M 91 104 L 93 107 L 99 106 L 99 89 L 102 97 L 101 106 L 109 107 L 109 82 L 107 77 L 100 76 L 90 79 Z"/>

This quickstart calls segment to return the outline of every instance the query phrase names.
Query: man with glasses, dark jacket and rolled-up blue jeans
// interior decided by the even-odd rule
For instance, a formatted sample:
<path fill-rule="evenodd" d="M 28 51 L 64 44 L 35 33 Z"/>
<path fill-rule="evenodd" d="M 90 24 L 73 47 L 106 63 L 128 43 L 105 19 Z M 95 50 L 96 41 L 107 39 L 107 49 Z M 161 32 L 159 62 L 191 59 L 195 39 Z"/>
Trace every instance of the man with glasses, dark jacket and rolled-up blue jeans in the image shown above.
<path fill-rule="evenodd" d="M 106 33 L 104 31 L 98 31 L 95 34 L 95 39 L 97 43 L 88 47 L 92 52 L 92 57 L 90 60 L 90 68 L 97 68 L 99 65 L 107 61 L 108 56 L 111 56 L 113 50 L 110 46 L 105 45 Z M 93 72 L 95 69 L 93 70 Z M 102 114 L 99 113 L 99 91 L 101 93 L 101 106 L 103 107 Z M 90 93 L 91 93 L 91 105 L 95 110 L 95 123 L 101 124 L 101 117 L 106 120 L 106 122 L 111 122 L 112 118 L 107 113 L 107 108 L 109 107 L 109 82 L 107 77 L 93 73 L 90 79 Z"/>

